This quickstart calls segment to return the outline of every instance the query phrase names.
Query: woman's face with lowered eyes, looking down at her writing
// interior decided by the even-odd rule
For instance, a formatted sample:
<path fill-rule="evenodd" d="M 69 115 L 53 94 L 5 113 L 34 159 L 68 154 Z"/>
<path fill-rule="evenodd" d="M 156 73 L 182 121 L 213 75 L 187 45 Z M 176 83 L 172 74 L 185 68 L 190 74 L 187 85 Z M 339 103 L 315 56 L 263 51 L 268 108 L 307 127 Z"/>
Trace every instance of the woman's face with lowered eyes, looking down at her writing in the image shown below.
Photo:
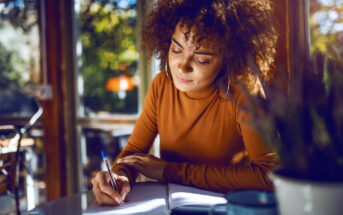
<path fill-rule="evenodd" d="M 214 39 L 192 41 L 191 28 L 188 40 L 186 27 L 177 25 L 171 38 L 168 63 L 175 87 L 183 92 L 196 92 L 214 84 L 223 63 L 218 42 Z"/>

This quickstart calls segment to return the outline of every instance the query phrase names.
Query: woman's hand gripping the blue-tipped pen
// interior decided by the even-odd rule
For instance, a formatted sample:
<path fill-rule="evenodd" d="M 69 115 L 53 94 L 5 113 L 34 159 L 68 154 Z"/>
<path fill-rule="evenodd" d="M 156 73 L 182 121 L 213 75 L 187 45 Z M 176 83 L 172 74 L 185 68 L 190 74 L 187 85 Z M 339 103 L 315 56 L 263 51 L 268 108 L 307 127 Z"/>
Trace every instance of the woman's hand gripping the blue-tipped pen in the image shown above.
<path fill-rule="evenodd" d="M 111 186 L 107 171 L 98 172 L 92 178 L 93 193 L 100 205 L 119 205 L 131 190 L 129 179 L 124 172 L 111 173 L 117 183 L 119 193 Z"/>

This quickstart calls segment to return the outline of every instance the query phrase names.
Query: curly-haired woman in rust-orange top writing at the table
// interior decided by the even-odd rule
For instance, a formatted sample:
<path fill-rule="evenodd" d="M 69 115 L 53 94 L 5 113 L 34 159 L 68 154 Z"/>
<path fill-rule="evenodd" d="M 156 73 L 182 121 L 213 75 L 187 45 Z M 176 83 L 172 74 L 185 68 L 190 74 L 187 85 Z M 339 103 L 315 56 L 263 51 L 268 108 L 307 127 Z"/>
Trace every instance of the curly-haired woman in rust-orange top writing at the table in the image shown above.
<path fill-rule="evenodd" d="M 270 77 L 276 32 L 268 0 L 161 0 L 142 31 L 148 57 L 161 70 L 127 146 L 112 168 L 92 179 L 99 204 L 118 205 L 137 172 L 164 182 L 227 192 L 272 189 L 271 153 L 249 126 L 238 83 L 250 93 L 259 82 L 246 62 Z M 164 69 L 165 68 L 165 69 Z M 161 158 L 147 155 L 160 135 Z"/>

